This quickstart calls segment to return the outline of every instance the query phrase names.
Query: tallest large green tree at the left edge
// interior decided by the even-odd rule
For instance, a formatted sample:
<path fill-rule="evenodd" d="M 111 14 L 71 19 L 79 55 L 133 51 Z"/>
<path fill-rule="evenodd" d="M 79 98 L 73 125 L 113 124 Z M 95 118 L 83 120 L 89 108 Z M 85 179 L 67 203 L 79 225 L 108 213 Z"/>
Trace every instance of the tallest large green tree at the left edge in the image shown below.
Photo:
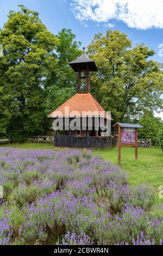
<path fill-rule="evenodd" d="M 57 68 L 59 39 L 39 19 L 39 13 L 19 5 L 10 11 L 0 31 L 4 56 L 0 58 L 0 133 L 12 140 L 47 129 L 44 83 Z"/>

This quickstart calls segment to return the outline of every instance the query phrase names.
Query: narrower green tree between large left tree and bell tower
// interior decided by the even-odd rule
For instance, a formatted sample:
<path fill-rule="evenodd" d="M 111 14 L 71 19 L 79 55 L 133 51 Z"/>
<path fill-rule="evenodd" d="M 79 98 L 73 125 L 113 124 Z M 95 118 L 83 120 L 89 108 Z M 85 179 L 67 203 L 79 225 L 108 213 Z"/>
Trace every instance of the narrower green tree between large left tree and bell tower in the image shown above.
<path fill-rule="evenodd" d="M 60 44 L 56 47 L 58 70 L 46 80 L 46 114 L 51 113 L 77 93 L 77 75 L 68 64 L 82 54 L 81 42 L 76 41 L 71 29 L 63 28 L 57 35 Z M 57 76 L 56 76 L 57 74 Z"/>

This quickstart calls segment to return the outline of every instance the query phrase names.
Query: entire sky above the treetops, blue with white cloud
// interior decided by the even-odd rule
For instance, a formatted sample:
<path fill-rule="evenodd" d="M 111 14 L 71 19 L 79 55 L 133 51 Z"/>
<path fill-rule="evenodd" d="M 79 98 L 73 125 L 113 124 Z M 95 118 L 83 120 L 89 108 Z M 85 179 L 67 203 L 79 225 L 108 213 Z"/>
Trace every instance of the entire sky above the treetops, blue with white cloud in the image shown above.
<path fill-rule="evenodd" d="M 145 43 L 155 50 L 153 60 L 163 63 L 163 0 L 0 0 L 0 28 L 9 10 L 23 4 L 39 11 L 54 34 L 71 28 L 82 47 L 107 29 L 126 33 L 133 46 Z M 163 119 L 163 113 L 160 114 Z"/>

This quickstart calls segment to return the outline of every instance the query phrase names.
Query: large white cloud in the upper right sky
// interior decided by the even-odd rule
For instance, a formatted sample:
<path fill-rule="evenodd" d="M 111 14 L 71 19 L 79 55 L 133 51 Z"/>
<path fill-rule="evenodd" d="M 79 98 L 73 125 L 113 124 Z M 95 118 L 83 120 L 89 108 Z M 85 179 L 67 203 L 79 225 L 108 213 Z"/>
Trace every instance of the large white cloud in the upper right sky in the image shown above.
<path fill-rule="evenodd" d="M 72 10 L 82 22 L 115 19 L 131 28 L 163 28 L 162 0 L 72 0 Z"/>

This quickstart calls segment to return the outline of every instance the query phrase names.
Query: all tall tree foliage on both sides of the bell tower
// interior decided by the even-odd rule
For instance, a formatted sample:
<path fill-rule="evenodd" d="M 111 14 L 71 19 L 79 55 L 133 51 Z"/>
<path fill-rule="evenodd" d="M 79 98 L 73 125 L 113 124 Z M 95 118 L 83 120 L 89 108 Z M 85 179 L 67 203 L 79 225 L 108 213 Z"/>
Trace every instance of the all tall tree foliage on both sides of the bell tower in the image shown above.
<path fill-rule="evenodd" d="M 47 132 L 47 115 L 77 92 L 68 63 L 82 53 L 71 29 L 53 35 L 39 13 L 19 7 L 0 31 L 0 134 L 14 142 Z M 88 53 L 99 70 L 91 74 L 91 92 L 115 122 L 161 109 L 162 65 L 149 59 L 153 50 L 131 48 L 126 34 L 107 31 L 95 35 Z"/>

